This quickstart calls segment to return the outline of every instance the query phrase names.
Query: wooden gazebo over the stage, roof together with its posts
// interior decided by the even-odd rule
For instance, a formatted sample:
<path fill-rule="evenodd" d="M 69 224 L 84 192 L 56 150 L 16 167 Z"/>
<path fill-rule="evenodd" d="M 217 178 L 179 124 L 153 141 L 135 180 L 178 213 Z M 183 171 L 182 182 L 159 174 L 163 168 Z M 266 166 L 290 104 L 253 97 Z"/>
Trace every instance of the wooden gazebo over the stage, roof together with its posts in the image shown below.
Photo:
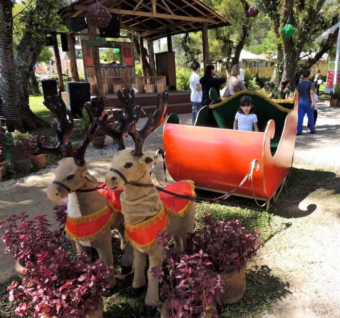
<path fill-rule="evenodd" d="M 97 0 L 79 0 L 61 8 L 58 13 L 64 21 L 72 17 L 86 16 L 87 10 L 95 3 Z M 208 29 L 230 25 L 221 15 L 199 0 L 99 0 L 98 3 L 108 8 L 111 13 L 118 14 L 120 29 L 132 31 L 133 36 L 149 40 L 167 37 L 169 56 L 173 56 L 173 61 L 171 36 L 202 30 L 205 66 L 209 62 Z M 87 23 L 87 30 L 88 39 L 95 40 L 95 27 Z M 139 43 L 142 52 L 143 41 Z M 133 41 L 131 45 L 133 46 Z M 103 95 L 98 46 L 91 47 L 91 56 L 97 94 Z M 72 64 L 72 55 L 70 59 Z"/>

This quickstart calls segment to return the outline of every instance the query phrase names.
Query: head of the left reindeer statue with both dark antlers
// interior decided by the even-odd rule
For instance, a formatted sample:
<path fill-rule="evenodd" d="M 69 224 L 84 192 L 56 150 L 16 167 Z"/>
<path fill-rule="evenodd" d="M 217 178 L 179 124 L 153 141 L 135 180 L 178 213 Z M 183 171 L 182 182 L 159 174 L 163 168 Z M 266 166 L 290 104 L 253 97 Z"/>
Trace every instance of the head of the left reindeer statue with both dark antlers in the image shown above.
<path fill-rule="evenodd" d="M 33 144 L 36 153 L 54 154 L 63 158 L 59 162 L 55 174 L 55 180 L 47 188 L 47 196 L 52 201 L 63 199 L 70 191 L 76 191 L 81 187 L 94 188 L 98 181 L 88 171 L 85 163 L 85 152 L 91 140 L 98 134 L 95 117 L 101 117 L 103 111 L 103 100 L 101 97 L 92 98 L 86 102 L 84 107 L 90 117 L 90 127 L 83 128 L 83 140 L 77 149 L 73 149 L 71 143 L 67 142 L 73 131 L 73 116 L 63 100 L 56 95 L 55 98 L 48 97 L 44 105 L 57 117 L 57 127 L 52 125 L 56 134 L 56 142 L 52 146 L 44 146 L 39 143 Z"/>

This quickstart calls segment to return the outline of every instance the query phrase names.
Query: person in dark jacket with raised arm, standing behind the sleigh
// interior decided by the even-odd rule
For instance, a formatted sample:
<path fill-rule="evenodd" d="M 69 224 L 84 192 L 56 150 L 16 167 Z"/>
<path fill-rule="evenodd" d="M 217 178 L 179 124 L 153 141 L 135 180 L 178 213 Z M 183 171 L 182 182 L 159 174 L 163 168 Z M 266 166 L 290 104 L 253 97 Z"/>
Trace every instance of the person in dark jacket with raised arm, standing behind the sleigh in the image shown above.
<path fill-rule="evenodd" d="M 200 84 L 202 85 L 202 106 L 211 104 L 209 91 L 212 87 L 217 90 L 217 94 L 220 97 L 220 86 L 225 82 L 225 78 L 216 73 L 213 65 L 208 64 L 205 67 L 204 76 L 200 79 Z"/>

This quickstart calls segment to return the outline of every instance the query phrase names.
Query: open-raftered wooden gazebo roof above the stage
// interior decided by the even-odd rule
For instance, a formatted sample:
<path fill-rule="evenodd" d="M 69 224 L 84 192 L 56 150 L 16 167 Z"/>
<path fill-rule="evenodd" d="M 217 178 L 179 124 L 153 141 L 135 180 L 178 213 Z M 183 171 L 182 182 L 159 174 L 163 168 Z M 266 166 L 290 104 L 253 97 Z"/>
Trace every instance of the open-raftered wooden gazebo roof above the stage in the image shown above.
<path fill-rule="evenodd" d="M 84 16 L 96 0 L 78 0 L 58 10 L 61 19 Z M 206 22 L 208 29 L 230 23 L 199 0 L 99 0 L 112 13 L 121 15 L 121 29 L 151 40 L 171 34 L 195 32 Z"/>

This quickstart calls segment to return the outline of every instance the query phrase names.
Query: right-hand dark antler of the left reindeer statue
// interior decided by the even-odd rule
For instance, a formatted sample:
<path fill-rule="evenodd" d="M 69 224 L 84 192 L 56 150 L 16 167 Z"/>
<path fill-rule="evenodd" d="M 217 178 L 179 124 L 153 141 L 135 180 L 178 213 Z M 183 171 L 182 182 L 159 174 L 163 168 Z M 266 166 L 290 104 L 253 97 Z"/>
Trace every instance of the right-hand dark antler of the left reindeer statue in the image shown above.
<path fill-rule="evenodd" d="M 91 102 L 88 101 L 84 104 L 84 108 L 90 118 L 90 127 L 83 128 L 83 140 L 80 146 L 73 151 L 73 157 L 78 166 L 83 166 L 85 164 L 87 146 L 91 143 L 91 140 L 98 135 L 98 125 L 95 118 L 102 118 L 104 111 L 103 98 L 101 96 L 99 98 L 92 98 Z"/>

